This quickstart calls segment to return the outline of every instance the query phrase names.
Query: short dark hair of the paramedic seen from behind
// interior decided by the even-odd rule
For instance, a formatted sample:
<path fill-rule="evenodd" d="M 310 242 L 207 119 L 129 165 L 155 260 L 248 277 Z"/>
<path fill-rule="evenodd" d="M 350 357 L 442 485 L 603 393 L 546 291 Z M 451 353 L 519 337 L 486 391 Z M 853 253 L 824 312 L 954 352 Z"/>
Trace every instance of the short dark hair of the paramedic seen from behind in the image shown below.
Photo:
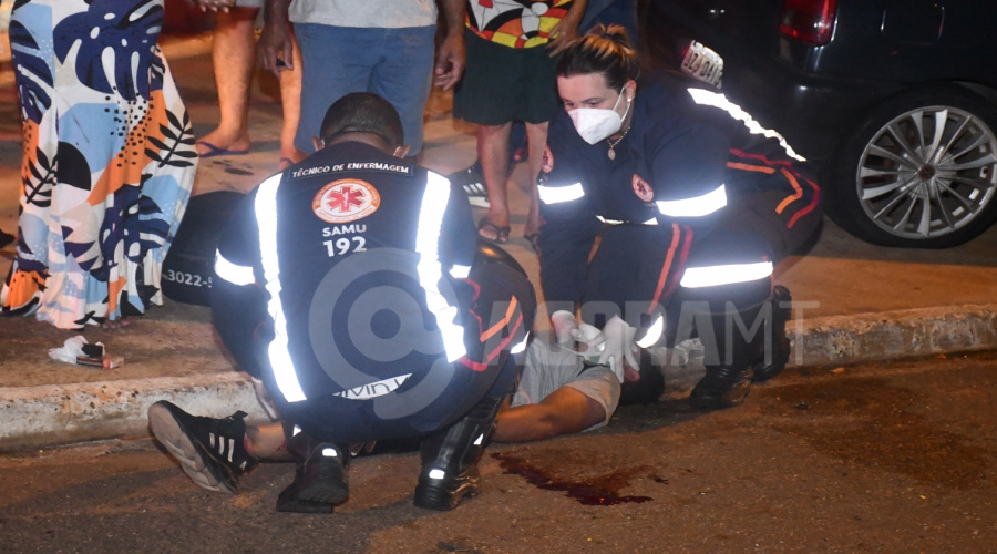
<path fill-rule="evenodd" d="M 337 100 L 322 120 L 321 138 L 330 142 L 347 132 L 373 133 L 390 146 L 404 144 L 401 119 L 390 102 L 369 92 L 352 92 Z"/>

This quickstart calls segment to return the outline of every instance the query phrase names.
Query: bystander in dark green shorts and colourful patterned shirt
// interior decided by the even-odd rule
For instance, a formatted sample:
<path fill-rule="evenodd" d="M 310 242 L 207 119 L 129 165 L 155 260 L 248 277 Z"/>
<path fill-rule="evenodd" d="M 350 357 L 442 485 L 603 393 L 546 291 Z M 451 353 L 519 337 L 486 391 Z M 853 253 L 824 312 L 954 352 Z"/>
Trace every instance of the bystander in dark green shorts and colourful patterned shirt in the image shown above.
<path fill-rule="evenodd" d="M 453 115 L 479 125 L 477 158 L 489 195 L 489 213 L 477 226 L 482 238 L 508 240 L 508 138 L 512 123 L 522 121 L 531 183 L 523 234 L 535 244 L 541 224 L 535 182 L 547 122 L 557 110 L 556 55 L 577 37 L 586 1 L 469 2 L 467 71 L 454 92 Z"/>

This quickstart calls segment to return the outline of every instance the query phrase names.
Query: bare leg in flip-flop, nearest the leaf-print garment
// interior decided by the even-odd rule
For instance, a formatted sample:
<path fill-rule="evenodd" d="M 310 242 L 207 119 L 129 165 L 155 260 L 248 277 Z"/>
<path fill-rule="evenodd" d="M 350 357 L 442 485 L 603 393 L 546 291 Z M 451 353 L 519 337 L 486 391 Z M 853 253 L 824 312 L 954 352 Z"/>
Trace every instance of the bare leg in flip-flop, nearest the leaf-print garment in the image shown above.
<path fill-rule="evenodd" d="M 218 12 L 212 38 L 212 63 L 215 84 L 218 88 L 218 127 L 201 137 L 199 142 L 222 150 L 249 148 L 249 83 L 256 63 L 253 23 L 258 8 L 232 8 L 228 13 Z M 197 152 L 207 154 L 209 148 L 197 145 Z"/>

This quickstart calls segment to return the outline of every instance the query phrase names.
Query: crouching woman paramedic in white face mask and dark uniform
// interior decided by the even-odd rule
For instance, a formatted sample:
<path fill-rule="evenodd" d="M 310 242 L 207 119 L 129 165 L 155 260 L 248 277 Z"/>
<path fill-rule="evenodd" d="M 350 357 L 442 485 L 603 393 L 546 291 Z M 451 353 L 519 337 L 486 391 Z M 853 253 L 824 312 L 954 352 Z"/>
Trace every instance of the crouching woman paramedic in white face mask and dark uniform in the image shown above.
<path fill-rule="evenodd" d="M 565 109 L 539 177 L 541 279 L 555 328 L 600 350 L 620 377 L 638 347 L 695 332 L 707 373 L 691 402 L 740 403 L 752 379 L 788 361 L 790 298 L 773 268 L 820 226 L 805 161 L 709 85 L 640 75 L 619 27 L 572 44 L 557 86 Z M 575 327 L 579 307 L 597 336 Z"/>

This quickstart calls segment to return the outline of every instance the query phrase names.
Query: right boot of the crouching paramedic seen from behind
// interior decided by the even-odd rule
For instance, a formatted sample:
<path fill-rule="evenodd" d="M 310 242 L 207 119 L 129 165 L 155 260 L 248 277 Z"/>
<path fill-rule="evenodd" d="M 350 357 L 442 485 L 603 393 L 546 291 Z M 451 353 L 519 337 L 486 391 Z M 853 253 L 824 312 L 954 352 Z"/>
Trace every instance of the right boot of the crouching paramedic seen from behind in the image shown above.
<path fill-rule="evenodd" d="M 453 425 L 422 441 L 422 471 L 415 486 L 419 507 L 453 510 L 464 496 L 481 493 L 477 458 L 505 397 L 485 397 Z"/>

